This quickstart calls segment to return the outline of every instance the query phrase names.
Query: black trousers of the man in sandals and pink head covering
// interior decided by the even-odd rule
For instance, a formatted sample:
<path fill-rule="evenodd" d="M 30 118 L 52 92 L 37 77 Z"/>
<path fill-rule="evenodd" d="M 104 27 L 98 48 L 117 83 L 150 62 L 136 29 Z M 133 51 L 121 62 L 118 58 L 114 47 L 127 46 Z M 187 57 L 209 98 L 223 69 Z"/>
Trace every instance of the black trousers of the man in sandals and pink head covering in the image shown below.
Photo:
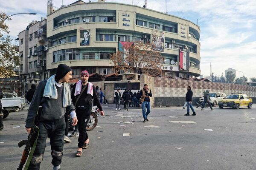
<path fill-rule="evenodd" d="M 76 109 L 76 116 L 78 119 L 78 131 L 79 131 L 78 147 L 80 148 L 84 146 L 84 142 L 88 139 L 86 127 L 87 127 L 87 123 L 90 120 L 91 111 L 92 111 L 91 106 L 85 107 L 83 111 L 79 111 Z"/>

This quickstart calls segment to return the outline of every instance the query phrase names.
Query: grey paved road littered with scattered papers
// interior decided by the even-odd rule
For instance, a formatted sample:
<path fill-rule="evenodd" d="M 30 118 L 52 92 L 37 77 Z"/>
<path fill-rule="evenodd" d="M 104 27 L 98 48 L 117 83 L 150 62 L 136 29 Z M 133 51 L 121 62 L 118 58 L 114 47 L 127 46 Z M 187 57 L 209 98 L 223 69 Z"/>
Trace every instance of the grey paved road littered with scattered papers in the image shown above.
<path fill-rule="evenodd" d="M 105 117 L 90 131 L 90 145 L 83 156 L 75 158 L 78 137 L 64 144 L 62 170 L 255 170 L 256 109 L 241 108 L 205 111 L 183 116 L 181 107 L 153 108 L 149 122 L 143 123 L 141 109 L 115 111 L 104 105 Z M 27 108 L 10 113 L 0 132 L 0 169 L 17 168 L 26 139 Z M 121 117 L 128 116 L 128 117 Z M 169 116 L 176 116 L 171 118 Z M 114 122 L 131 123 L 114 123 Z M 194 121 L 173 123 L 169 121 Z M 143 127 L 155 125 L 159 128 Z M 17 128 L 13 128 L 20 126 Z M 212 129 L 207 131 L 203 129 Z M 97 132 L 103 131 L 103 132 Z M 132 133 L 123 136 L 123 133 Z M 179 149 L 177 149 L 179 148 Z M 49 139 L 41 170 L 52 169 Z"/>

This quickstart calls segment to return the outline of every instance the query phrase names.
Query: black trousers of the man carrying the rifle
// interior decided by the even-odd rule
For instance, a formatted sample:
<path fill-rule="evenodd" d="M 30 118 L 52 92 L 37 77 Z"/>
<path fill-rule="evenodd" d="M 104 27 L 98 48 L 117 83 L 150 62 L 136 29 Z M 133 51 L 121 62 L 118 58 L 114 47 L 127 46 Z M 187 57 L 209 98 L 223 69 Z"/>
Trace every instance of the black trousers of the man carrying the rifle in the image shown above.
<path fill-rule="evenodd" d="M 44 157 L 45 143 L 47 136 L 50 138 L 52 149 L 52 164 L 58 166 L 61 164 L 62 151 L 64 145 L 65 119 L 64 116 L 55 122 L 39 122 L 39 136 L 36 144 L 35 152 L 32 156 L 28 170 L 39 170 L 41 161 Z"/>

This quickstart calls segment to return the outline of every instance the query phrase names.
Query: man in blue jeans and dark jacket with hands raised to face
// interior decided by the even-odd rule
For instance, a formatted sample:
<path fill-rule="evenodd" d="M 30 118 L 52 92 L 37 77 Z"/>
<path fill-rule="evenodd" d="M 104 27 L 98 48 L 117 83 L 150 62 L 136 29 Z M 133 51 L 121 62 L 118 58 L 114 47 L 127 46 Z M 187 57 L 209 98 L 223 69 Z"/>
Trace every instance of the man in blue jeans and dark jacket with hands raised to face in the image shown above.
<path fill-rule="evenodd" d="M 140 90 L 141 107 L 144 123 L 148 121 L 148 114 L 150 113 L 150 97 L 152 97 L 151 89 L 148 89 L 148 85 L 145 84 L 143 89 Z"/>

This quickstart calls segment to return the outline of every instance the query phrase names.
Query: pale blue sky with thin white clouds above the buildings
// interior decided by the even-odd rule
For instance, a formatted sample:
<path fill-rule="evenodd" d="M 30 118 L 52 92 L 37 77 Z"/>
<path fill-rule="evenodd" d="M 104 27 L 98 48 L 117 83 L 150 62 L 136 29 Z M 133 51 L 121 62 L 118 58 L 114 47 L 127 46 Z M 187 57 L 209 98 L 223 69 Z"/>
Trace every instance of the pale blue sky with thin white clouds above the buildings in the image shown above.
<path fill-rule="evenodd" d="M 64 5 L 76 0 L 63 0 Z M 91 0 L 95 2 L 97 0 Z M 53 0 L 60 7 L 62 0 Z M 89 2 L 89 0 L 84 0 Z M 144 0 L 106 0 L 143 6 Z M 148 8 L 166 12 L 197 23 L 201 29 L 201 74 L 221 76 L 228 68 L 242 71 L 245 77 L 256 77 L 256 0 L 148 0 Z M 37 15 L 16 15 L 6 21 L 12 39 L 16 39 L 32 20 L 46 17 L 47 0 L 1 0 L 0 11 Z M 237 77 L 242 77 L 237 72 Z"/>

